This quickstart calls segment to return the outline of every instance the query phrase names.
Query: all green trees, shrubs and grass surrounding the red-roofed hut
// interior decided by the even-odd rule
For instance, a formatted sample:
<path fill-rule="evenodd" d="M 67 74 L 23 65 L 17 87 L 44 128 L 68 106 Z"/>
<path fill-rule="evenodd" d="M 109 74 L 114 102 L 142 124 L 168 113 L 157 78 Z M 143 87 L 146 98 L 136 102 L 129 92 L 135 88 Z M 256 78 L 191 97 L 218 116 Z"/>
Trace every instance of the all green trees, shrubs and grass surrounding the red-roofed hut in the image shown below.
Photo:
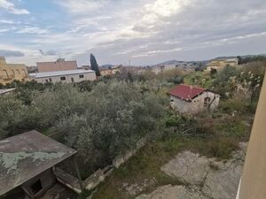
<path fill-rule="evenodd" d="M 133 198 L 123 183 L 152 180 L 143 193 L 182 184 L 160 171 L 179 151 L 230 158 L 238 143 L 248 140 L 264 72 L 260 62 L 228 66 L 216 73 L 173 70 L 155 75 L 148 71 L 77 84 L 13 82 L 7 87 L 17 92 L 0 97 L 0 137 L 31 129 L 50 135 L 78 150 L 82 178 L 86 178 L 147 136 L 145 147 L 115 170 L 93 196 Z M 166 93 L 182 82 L 220 94 L 219 109 L 195 116 L 170 110 Z"/>

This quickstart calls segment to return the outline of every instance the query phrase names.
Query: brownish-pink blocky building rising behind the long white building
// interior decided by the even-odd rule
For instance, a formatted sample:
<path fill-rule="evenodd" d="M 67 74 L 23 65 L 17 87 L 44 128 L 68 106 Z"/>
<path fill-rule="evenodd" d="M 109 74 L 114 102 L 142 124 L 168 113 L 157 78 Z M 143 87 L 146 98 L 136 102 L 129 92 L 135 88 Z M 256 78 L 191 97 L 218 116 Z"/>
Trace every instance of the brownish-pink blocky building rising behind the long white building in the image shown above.
<path fill-rule="evenodd" d="M 56 62 L 37 62 L 39 73 L 76 70 L 76 61 L 66 61 L 65 58 L 59 58 Z"/>

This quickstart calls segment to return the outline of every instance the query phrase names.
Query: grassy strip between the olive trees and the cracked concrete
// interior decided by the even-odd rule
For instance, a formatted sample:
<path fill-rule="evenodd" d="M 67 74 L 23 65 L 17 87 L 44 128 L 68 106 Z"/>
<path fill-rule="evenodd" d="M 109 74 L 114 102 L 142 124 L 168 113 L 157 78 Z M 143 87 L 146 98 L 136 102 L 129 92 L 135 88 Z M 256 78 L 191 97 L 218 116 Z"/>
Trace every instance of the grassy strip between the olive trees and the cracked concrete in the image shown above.
<path fill-rule="evenodd" d="M 192 134 L 178 134 L 178 132 L 171 134 L 170 131 L 166 131 L 165 134 L 169 133 L 169 135 L 163 136 L 156 142 L 148 143 L 125 165 L 115 170 L 106 182 L 99 186 L 93 199 L 135 198 L 136 195 L 129 195 L 123 187 L 124 183 L 141 184 L 144 180 L 155 179 L 155 183 L 145 187 L 139 194 L 150 193 L 163 185 L 184 184 L 161 172 L 160 167 L 185 149 L 206 157 L 216 157 L 219 160 L 231 158 L 231 152 L 238 149 L 239 141 L 243 136 L 248 135 L 249 129 L 246 128 L 246 120 L 243 121 L 245 118 L 227 119 L 222 114 L 217 119 L 209 117 L 200 119 L 198 121 L 200 126 L 198 123 L 188 123 L 190 127 L 192 124 L 196 127 L 195 133 Z M 169 114 L 166 119 L 166 129 L 178 128 L 180 120 L 186 121 L 180 116 Z M 210 167 L 215 171 L 219 169 L 217 165 L 210 165 Z"/>

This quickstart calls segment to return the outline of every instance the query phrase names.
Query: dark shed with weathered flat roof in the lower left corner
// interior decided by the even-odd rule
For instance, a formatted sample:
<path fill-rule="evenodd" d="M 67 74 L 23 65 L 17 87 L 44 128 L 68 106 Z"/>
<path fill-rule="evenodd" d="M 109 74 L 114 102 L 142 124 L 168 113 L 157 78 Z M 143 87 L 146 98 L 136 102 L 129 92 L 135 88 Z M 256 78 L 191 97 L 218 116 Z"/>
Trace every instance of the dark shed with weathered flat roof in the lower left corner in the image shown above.
<path fill-rule="evenodd" d="M 20 198 L 17 192 L 30 199 L 42 196 L 57 181 L 54 166 L 75 153 L 36 131 L 1 140 L 0 197 Z M 10 196 L 13 192 L 16 196 Z"/>

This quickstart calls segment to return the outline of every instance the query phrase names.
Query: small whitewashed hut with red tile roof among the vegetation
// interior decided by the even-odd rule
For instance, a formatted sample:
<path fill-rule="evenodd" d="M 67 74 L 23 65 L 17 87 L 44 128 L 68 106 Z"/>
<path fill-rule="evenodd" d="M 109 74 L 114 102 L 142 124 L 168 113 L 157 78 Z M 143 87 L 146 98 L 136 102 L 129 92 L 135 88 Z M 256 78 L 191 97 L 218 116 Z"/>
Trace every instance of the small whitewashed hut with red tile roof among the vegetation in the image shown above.
<path fill-rule="evenodd" d="M 200 111 L 214 110 L 220 96 L 206 88 L 180 84 L 168 91 L 173 109 L 182 113 L 195 114 Z"/>

